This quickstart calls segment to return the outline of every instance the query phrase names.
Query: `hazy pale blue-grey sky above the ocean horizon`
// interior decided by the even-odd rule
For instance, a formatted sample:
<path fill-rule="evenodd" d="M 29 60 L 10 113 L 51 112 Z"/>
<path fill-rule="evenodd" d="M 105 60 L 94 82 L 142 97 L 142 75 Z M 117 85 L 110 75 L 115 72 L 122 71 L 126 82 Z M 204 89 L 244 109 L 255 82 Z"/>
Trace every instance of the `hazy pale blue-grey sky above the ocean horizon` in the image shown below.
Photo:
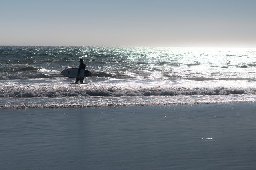
<path fill-rule="evenodd" d="M 256 47 L 256 0 L 0 0 L 0 45 Z"/>

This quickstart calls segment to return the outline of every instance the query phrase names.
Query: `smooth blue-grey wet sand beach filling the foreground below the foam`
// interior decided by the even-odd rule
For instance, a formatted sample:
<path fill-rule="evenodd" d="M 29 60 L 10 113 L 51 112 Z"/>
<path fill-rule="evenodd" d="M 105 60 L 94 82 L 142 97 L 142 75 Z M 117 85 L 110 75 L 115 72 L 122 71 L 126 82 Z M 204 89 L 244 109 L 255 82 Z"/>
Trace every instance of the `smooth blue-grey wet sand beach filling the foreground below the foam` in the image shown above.
<path fill-rule="evenodd" d="M 2 170 L 254 170 L 256 103 L 0 109 Z"/>

